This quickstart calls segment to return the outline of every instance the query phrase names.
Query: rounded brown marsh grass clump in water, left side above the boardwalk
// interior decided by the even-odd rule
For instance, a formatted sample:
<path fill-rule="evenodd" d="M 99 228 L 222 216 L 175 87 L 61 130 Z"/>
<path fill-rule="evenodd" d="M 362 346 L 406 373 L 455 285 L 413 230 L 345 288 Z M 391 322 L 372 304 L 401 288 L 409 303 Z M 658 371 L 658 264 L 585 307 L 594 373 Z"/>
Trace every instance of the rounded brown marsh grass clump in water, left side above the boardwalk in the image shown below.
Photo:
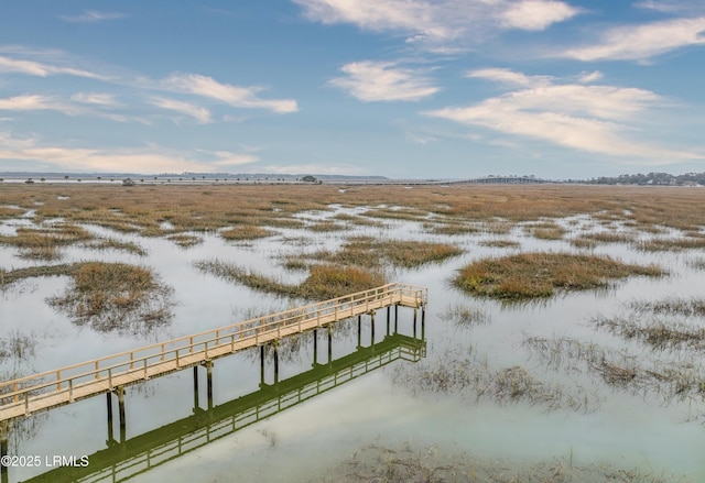
<path fill-rule="evenodd" d="M 83 262 L 72 266 L 73 284 L 47 303 L 79 327 L 100 332 L 149 334 L 171 322 L 173 289 L 147 267 Z"/>

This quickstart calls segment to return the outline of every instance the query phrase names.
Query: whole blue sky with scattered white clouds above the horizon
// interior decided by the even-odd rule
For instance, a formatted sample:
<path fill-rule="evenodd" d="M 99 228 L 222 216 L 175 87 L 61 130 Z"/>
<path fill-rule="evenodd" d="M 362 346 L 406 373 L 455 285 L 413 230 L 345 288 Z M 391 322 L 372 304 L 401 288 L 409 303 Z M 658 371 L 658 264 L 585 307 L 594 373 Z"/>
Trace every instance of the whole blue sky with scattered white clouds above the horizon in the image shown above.
<path fill-rule="evenodd" d="M 705 172 L 702 0 L 2 0 L 0 171 Z"/>

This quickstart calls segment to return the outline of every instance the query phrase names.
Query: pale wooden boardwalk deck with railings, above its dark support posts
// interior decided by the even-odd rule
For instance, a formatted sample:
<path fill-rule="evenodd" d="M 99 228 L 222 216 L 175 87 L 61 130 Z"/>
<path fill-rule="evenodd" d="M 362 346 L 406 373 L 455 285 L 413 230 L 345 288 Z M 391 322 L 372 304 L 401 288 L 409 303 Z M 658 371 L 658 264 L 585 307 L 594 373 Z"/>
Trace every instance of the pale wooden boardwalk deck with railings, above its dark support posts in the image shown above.
<path fill-rule="evenodd" d="M 30 416 L 384 307 L 424 308 L 427 289 L 392 283 L 218 329 L 0 383 L 0 422 Z"/>

